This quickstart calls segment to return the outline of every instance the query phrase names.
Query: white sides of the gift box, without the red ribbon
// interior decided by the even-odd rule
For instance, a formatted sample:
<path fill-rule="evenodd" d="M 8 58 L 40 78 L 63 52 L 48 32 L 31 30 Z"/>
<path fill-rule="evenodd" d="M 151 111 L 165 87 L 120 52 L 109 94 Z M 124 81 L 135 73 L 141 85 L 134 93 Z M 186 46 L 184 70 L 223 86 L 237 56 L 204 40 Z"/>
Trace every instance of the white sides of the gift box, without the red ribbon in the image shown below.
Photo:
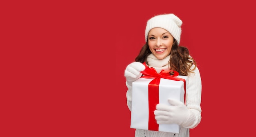
<path fill-rule="evenodd" d="M 184 88 L 187 88 L 188 77 L 187 76 L 176 76 L 178 78 L 184 79 L 186 85 L 184 86 L 184 81 L 168 80 L 161 78 L 158 88 L 158 104 L 168 103 L 168 98 L 180 100 L 181 102 L 186 102 L 186 92 Z M 149 123 L 149 102 L 152 99 L 148 97 L 148 84 L 153 80 L 153 78 L 139 78 L 135 82 L 132 82 L 132 109 L 131 109 L 131 124 L 130 128 L 152 130 L 149 128 L 151 125 Z M 155 104 L 156 106 L 156 104 Z M 153 106 L 154 107 L 154 106 Z M 152 121 L 150 121 L 152 123 Z M 180 126 L 177 124 L 156 124 L 158 126 L 157 131 L 179 133 Z M 153 129 L 155 130 L 155 129 Z"/>

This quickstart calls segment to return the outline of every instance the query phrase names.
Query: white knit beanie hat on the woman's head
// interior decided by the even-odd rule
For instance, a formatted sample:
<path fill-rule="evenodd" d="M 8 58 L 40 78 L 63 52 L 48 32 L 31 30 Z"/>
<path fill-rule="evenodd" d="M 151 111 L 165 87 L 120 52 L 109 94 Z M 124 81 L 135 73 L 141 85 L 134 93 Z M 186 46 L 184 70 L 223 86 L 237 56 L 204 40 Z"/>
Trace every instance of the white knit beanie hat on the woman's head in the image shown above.
<path fill-rule="evenodd" d="M 181 25 L 182 20 L 174 14 L 162 14 L 156 15 L 153 18 L 150 18 L 147 22 L 145 30 L 145 40 L 148 40 L 148 32 L 156 27 L 163 28 L 166 31 L 169 31 L 173 38 L 180 44 L 180 35 L 181 35 Z"/>

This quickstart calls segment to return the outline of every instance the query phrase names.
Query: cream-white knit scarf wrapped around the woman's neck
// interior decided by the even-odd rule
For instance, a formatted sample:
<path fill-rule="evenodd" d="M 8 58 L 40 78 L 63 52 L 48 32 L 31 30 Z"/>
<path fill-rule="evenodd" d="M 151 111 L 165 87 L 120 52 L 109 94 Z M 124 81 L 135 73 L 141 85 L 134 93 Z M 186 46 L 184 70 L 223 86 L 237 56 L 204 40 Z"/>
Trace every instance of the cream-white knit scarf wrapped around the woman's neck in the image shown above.
<path fill-rule="evenodd" d="M 151 53 L 147 57 L 148 67 L 153 67 L 157 71 L 157 73 L 160 73 L 162 69 L 168 71 L 170 70 L 168 67 L 168 61 L 170 60 L 170 57 L 171 55 L 168 55 L 164 59 L 159 60 Z"/>

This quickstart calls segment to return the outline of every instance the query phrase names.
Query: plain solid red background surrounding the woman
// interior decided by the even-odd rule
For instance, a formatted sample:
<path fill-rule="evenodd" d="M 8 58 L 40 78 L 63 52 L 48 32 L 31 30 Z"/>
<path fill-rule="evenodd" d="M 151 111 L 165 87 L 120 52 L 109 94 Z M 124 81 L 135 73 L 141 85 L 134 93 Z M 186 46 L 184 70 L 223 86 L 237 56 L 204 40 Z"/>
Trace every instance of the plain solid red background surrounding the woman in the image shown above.
<path fill-rule="evenodd" d="M 254 131 L 254 20 L 249 0 L 0 2 L 0 136 L 133 137 L 124 69 L 146 21 L 175 13 L 202 78 L 191 137 Z M 249 126 L 251 125 L 252 126 Z"/>

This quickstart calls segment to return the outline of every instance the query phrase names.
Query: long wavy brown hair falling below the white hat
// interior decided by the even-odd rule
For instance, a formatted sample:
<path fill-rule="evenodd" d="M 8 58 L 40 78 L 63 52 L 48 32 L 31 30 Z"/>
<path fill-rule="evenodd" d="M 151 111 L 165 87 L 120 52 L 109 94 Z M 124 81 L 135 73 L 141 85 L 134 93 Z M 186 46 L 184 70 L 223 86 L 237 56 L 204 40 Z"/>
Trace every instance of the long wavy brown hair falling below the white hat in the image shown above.
<path fill-rule="evenodd" d="M 139 55 L 135 58 L 135 61 L 141 63 L 146 62 L 146 64 L 148 64 L 146 59 L 151 53 L 152 52 L 148 47 L 148 42 L 146 42 L 146 44 L 144 44 L 144 46 L 141 48 Z M 196 66 L 195 60 L 192 57 L 189 57 L 189 49 L 184 46 L 178 46 L 175 39 L 171 49 L 171 57 L 168 64 L 170 70 L 177 71 L 179 75 L 184 76 L 188 76 L 189 73 L 195 70 L 195 67 L 191 69 L 193 64 Z"/>

